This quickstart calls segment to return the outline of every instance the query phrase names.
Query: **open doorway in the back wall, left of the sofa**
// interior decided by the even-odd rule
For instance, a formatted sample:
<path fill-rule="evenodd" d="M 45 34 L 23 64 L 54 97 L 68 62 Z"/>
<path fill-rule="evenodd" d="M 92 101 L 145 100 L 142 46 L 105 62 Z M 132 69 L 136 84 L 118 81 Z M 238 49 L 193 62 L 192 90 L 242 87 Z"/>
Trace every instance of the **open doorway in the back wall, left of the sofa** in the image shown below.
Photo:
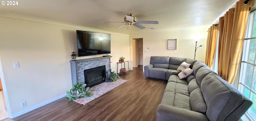
<path fill-rule="evenodd" d="M 143 38 L 132 39 L 132 49 L 133 49 L 133 67 L 142 66 L 143 65 Z"/>

